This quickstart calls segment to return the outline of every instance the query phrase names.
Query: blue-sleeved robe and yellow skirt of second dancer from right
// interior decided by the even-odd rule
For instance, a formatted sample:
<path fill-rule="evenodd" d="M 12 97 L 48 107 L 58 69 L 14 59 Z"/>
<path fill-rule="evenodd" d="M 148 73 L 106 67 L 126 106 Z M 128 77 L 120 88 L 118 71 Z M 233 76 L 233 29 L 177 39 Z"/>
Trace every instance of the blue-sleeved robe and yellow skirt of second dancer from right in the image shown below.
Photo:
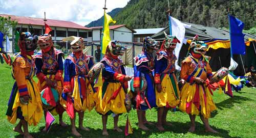
<path fill-rule="evenodd" d="M 161 92 L 156 90 L 156 104 L 158 107 L 175 107 L 179 104 L 180 92 L 174 74 L 175 61 L 174 53 L 168 56 L 165 50 L 156 53 L 155 59 L 155 82 L 161 84 Z"/>

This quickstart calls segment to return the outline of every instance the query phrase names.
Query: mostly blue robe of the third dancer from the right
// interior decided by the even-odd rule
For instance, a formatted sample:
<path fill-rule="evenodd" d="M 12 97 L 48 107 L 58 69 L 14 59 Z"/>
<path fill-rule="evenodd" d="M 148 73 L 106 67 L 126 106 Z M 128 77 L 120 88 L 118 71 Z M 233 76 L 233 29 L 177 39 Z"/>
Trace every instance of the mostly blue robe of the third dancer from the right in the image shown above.
<path fill-rule="evenodd" d="M 156 107 L 155 81 L 152 70 L 154 69 L 153 57 L 147 56 L 143 51 L 134 58 L 134 88 L 140 88 L 135 96 L 135 107 L 145 110 Z"/>

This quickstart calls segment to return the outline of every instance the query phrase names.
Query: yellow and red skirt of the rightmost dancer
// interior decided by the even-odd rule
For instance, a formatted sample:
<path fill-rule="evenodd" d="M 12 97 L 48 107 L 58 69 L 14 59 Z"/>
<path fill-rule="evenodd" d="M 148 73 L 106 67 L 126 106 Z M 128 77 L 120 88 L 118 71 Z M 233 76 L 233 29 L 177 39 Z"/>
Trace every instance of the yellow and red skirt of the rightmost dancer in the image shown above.
<path fill-rule="evenodd" d="M 181 89 L 179 109 L 190 115 L 202 115 L 210 118 L 210 113 L 217 109 L 206 85 L 186 83 Z"/>

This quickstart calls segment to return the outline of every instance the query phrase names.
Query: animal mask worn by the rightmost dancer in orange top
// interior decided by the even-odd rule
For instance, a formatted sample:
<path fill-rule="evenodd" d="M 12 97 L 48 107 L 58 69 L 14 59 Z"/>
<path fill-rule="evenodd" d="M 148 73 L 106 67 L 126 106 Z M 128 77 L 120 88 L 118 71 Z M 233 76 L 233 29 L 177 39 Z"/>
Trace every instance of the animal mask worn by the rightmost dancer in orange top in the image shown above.
<path fill-rule="evenodd" d="M 203 41 L 194 41 L 191 42 L 190 49 L 192 49 L 195 53 L 204 55 L 208 49 L 208 45 L 205 44 Z"/>

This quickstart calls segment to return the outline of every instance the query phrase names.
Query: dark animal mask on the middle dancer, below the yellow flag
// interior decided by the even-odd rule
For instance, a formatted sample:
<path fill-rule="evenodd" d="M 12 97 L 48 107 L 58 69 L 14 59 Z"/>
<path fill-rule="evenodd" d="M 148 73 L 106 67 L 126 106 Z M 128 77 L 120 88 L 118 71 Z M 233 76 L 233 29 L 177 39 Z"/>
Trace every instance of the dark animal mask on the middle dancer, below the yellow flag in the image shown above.
<path fill-rule="evenodd" d="M 117 43 L 117 41 L 111 41 L 109 48 L 113 56 L 123 56 L 125 47 L 121 46 L 121 44 Z"/>

